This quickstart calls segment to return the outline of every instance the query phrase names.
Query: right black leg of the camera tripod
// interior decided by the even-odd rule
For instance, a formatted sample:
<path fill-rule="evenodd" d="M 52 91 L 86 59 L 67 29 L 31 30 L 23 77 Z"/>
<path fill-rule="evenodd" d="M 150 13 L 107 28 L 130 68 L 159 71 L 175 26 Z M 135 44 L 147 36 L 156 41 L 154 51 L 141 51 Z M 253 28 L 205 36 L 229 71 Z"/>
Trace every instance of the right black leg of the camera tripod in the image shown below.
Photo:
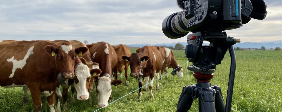
<path fill-rule="evenodd" d="M 217 85 L 212 85 L 212 86 L 213 86 L 212 88 L 216 91 L 215 100 L 214 100 L 215 110 L 216 112 L 224 112 L 225 104 L 221 93 L 221 88 Z"/>

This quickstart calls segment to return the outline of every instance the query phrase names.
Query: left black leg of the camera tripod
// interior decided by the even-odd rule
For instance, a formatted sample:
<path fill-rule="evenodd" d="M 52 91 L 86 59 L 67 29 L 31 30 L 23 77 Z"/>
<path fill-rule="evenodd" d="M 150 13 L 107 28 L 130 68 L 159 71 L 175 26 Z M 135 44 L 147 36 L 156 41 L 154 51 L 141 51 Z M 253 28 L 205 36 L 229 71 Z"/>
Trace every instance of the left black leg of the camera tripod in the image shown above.
<path fill-rule="evenodd" d="M 194 99 L 192 99 L 193 86 L 184 86 L 177 104 L 176 112 L 187 112 L 190 110 Z"/>

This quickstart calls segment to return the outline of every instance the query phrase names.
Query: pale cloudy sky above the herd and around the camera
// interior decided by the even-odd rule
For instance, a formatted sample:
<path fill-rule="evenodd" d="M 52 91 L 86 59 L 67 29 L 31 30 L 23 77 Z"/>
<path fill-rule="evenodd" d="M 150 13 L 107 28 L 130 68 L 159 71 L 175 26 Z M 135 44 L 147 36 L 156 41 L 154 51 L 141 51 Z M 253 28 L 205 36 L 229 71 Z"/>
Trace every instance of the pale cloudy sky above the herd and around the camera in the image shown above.
<path fill-rule="evenodd" d="M 265 0 L 265 20 L 227 31 L 243 42 L 282 40 L 282 1 Z M 162 21 L 182 11 L 176 0 L 1 0 L 0 40 L 87 40 L 110 44 L 185 42 L 162 33 Z"/>

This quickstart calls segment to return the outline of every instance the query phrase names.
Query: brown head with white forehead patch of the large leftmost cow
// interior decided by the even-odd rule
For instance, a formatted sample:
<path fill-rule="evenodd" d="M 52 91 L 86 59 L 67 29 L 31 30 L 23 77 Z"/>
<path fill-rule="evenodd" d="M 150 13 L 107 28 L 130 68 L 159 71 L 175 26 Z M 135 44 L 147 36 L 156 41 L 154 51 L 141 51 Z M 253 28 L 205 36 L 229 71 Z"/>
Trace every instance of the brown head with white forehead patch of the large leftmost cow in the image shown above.
<path fill-rule="evenodd" d="M 74 77 L 74 64 L 77 54 L 83 55 L 88 51 L 86 47 L 74 48 L 69 42 L 55 47 L 48 45 L 44 47 L 45 51 L 55 56 L 56 68 L 62 73 L 62 78 L 71 79 Z"/>

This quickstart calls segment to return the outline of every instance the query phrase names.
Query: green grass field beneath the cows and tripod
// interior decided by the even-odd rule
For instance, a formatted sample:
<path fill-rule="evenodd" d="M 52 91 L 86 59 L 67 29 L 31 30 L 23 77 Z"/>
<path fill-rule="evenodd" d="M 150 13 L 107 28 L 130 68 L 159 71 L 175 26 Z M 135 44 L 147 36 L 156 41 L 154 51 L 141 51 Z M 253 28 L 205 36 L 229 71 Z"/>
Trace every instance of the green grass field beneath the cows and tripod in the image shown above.
<path fill-rule="evenodd" d="M 134 52 L 134 50 L 131 50 Z M 174 50 L 178 64 L 187 66 L 183 50 Z M 282 51 L 236 51 L 237 68 L 234 84 L 232 110 L 234 112 L 281 112 L 282 111 Z M 189 63 L 191 64 L 191 63 Z M 224 101 L 228 85 L 230 67 L 229 53 L 225 55 L 222 64 L 217 65 L 214 78 L 211 83 L 221 86 Z M 171 71 L 172 69 L 169 69 Z M 187 69 L 184 67 L 184 78 L 169 74 L 169 78 L 160 80 L 160 90 L 153 86 L 154 99 L 149 98 L 149 91 L 142 92 L 142 98 L 136 99 L 138 92 L 102 109 L 101 112 L 167 112 L 176 111 L 176 105 L 184 85 L 195 84 L 196 80 L 189 72 L 187 80 Z M 125 82 L 125 78 L 122 79 Z M 122 83 L 113 87 L 113 98 L 118 99 L 123 95 L 138 88 L 138 81 L 129 78 L 130 86 Z M 31 95 L 28 92 L 29 103 L 21 103 L 22 88 L 0 88 L 0 112 L 22 112 L 33 111 Z M 95 99 L 95 93 L 91 94 Z M 70 93 L 68 98 L 70 99 Z M 42 112 L 49 111 L 45 97 L 42 97 Z M 97 102 L 90 104 L 88 101 L 76 100 L 69 104 L 69 111 L 91 112 L 98 109 Z M 194 101 L 190 112 L 197 111 L 198 101 Z M 61 107 L 62 104 L 61 104 Z M 63 110 L 63 108 L 62 108 Z"/>

